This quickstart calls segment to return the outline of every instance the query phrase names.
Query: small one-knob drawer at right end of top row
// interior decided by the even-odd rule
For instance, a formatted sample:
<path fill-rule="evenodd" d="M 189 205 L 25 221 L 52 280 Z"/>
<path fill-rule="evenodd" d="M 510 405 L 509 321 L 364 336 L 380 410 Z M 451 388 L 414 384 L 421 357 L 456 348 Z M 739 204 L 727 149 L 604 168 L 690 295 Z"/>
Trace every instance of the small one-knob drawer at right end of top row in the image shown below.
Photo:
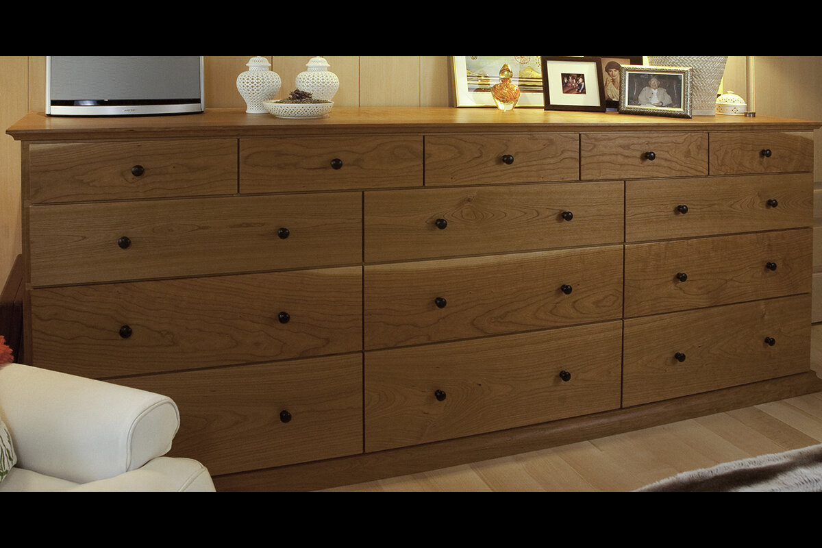
<path fill-rule="evenodd" d="M 712 175 L 811 172 L 814 168 L 810 131 L 716 131 L 710 141 Z"/>

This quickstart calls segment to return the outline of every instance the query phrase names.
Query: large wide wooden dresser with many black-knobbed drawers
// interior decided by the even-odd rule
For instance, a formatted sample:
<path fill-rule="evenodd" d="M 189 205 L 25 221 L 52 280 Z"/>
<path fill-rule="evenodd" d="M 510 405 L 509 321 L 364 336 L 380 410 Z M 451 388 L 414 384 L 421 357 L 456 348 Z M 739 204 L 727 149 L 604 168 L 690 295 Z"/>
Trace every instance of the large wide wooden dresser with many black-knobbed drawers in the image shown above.
<path fill-rule="evenodd" d="M 168 394 L 221 490 L 344 485 L 822 389 L 815 122 L 31 113 L 26 356 Z"/>

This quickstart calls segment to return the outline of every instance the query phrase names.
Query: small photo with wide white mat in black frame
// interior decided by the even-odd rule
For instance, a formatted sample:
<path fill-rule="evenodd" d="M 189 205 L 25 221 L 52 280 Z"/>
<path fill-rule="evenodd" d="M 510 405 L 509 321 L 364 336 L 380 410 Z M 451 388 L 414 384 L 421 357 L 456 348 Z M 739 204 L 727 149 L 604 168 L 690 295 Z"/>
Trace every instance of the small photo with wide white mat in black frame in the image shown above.
<path fill-rule="evenodd" d="M 545 110 L 605 112 L 603 66 L 598 57 L 543 57 Z"/>

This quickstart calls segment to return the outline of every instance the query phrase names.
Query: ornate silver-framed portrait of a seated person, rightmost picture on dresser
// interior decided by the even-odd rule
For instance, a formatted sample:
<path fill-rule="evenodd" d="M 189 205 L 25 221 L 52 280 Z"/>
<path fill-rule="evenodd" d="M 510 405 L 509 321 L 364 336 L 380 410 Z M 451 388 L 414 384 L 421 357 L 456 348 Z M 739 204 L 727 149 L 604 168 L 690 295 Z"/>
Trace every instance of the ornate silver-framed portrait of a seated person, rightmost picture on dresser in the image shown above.
<path fill-rule="evenodd" d="M 623 65 L 619 112 L 690 118 L 690 67 Z"/>

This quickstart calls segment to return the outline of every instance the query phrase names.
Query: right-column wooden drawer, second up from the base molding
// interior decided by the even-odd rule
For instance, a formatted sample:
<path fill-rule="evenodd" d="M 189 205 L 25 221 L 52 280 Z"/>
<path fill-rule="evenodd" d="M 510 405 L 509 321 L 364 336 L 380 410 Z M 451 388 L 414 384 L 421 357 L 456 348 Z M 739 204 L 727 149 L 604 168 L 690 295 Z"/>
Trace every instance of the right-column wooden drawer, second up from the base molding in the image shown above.
<path fill-rule="evenodd" d="M 810 292 L 811 255 L 810 228 L 629 244 L 625 317 Z"/>

